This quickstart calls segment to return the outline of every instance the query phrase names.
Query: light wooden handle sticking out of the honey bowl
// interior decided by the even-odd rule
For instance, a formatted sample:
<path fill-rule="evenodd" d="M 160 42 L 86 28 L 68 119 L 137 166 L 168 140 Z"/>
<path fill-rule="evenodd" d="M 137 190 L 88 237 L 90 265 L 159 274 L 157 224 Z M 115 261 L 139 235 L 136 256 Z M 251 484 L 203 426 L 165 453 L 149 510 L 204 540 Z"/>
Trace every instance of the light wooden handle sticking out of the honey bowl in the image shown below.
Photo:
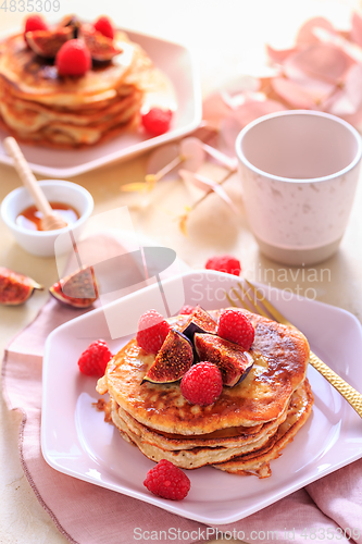
<path fill-rule="evenodd" d="M 29 169 L 29 165 L 17 145 L 17 141 L 9 136 L 3 140 L 2 144 L 8 154 L 13 158 L 16 172 L 18 173 L 23 185 L 27 188 L 27 190 L 34 198 L 38 210 L 40 210 L 43 215 L 51 215 L 53 213 L 53 210 L 49 205 L 45 194 L 42 193 L 41 187 L 39 186 L 32 170 Z"/>

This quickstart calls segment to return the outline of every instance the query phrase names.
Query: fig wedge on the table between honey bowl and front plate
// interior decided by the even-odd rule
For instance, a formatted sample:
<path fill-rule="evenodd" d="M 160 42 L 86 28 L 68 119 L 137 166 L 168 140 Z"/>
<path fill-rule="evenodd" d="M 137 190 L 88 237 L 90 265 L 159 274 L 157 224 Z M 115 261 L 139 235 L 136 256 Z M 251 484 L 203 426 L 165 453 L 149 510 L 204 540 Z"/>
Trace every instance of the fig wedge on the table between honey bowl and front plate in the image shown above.
<path fill-rule="evenodd" d="M 63 277 L 49 288 L 59 302 L 73 308 L 89 308 L 98 298 L 98 285 L 92 267 L 86 267 Z"/>

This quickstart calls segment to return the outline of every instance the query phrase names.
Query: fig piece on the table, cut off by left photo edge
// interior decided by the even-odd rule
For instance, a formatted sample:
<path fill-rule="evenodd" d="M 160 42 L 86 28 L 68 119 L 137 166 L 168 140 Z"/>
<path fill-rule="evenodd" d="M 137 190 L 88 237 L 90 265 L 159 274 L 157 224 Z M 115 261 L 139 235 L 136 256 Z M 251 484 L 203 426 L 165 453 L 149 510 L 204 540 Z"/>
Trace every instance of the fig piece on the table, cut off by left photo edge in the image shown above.
<path fill-rule="evenodd" d="M 42 290 L 43 287 L 27 275 L 0 267 L 0 305 L 23 305 L 35 289 Z"/>

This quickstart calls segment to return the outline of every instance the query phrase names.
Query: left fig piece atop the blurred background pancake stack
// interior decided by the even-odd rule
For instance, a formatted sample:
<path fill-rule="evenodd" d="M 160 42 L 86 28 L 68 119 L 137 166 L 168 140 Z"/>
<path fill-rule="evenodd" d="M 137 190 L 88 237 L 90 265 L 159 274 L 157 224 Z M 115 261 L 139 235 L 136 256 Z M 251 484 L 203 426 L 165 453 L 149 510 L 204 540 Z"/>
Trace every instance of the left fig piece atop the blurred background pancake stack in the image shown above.
<path fill-rule="evenodd" d="M 49 30 L 34 30 L 26 33 L 26 41 L 30 49 L 40 57 L 54 59 L 60 48 L 73 38 L 71 26 L 51 28 Z"/>

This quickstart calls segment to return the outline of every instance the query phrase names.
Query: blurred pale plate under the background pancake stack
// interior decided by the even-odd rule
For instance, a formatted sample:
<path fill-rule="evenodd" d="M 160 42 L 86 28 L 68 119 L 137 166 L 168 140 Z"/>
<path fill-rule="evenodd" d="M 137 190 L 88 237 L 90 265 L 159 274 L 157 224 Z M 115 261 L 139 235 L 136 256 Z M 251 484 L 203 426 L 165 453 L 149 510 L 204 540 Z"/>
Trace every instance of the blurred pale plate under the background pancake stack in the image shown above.
<path fill-rule="evenodd" d="M 147 138 L 141 133 L 126 133 L 89 149 L 49 149 L 21 144 L 33 172 L 51 178 L 67 178 L 90 170 L 130 159 L 153 147 L 180 138 L 200 124 L 202 116 L 201 87 L 195 60 L 188 49 L 160 38 L 126 30 L 139 44 L 154 65 L 171 79 L 177 100 L 171 129 L 161 136 Z M 12 164 L 1 140 L 8 134 L 0 129 L 0 163 Z"/>

